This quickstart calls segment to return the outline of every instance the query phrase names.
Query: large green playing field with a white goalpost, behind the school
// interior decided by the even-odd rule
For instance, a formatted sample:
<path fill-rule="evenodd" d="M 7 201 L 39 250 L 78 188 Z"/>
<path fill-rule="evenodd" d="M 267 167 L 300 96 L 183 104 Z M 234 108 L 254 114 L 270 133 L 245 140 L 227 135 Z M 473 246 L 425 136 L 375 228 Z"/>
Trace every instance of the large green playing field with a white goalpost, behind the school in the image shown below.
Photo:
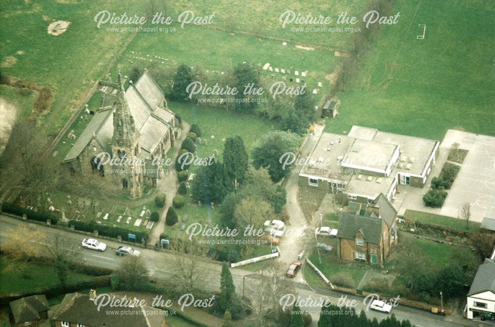
<path fill-rule="evenodd" d="M 397 0 L 385 26 L 340 94 L 327 131 L 353 124 L 442 140 L 449 128 L 495 135 L 492 1 Z M 426 25 L 424 40 L 419 24 Z"/>

